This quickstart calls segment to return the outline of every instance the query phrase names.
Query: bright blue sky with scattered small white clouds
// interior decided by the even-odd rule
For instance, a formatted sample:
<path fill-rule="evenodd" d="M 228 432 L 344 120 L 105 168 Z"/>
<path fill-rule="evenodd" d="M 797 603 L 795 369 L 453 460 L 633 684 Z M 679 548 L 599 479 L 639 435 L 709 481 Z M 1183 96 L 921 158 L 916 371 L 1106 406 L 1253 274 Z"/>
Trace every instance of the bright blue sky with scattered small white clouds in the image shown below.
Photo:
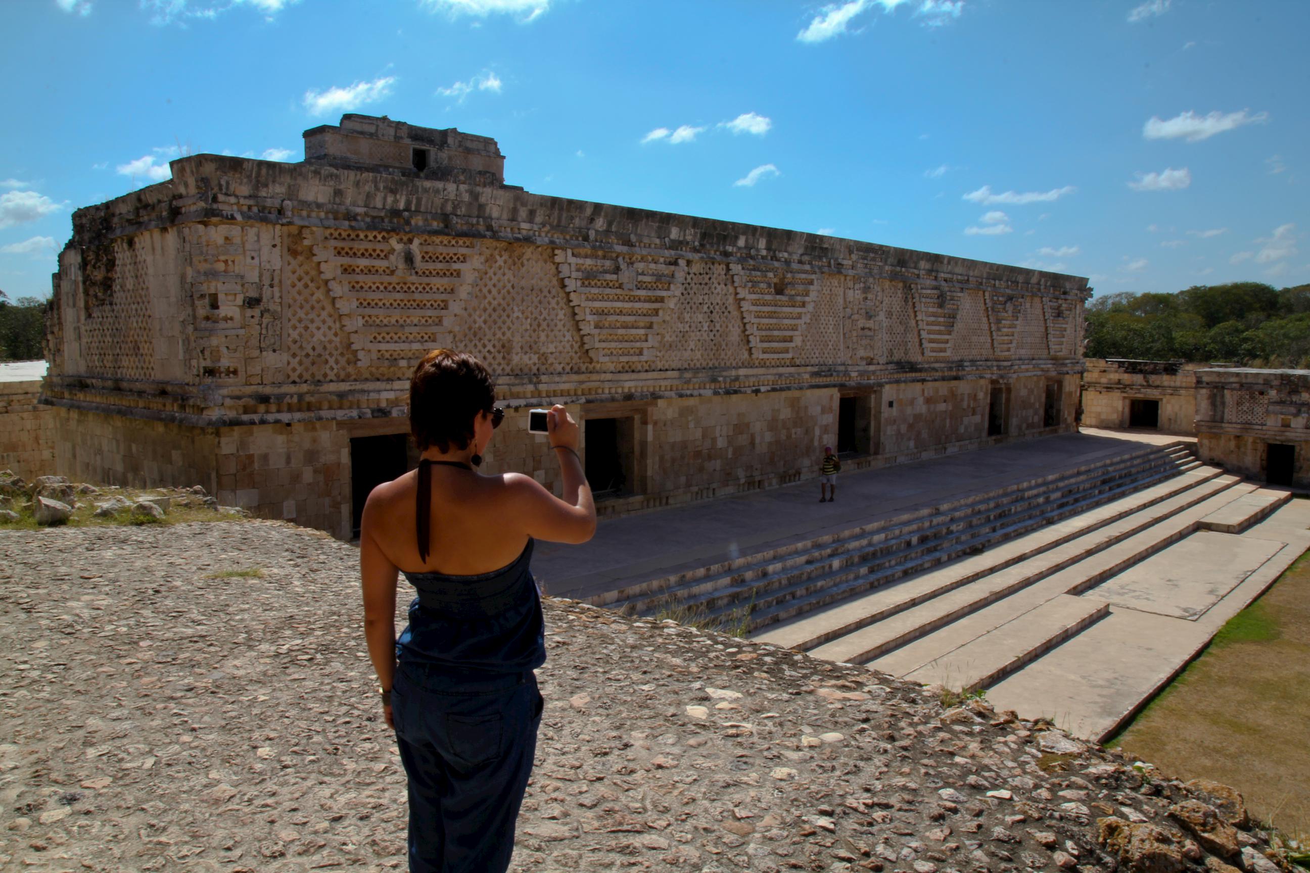
<path fill-rule="evenodd" d="M 8 0 L 0 289 L 178 153 L 343 111 L 529 191 L 1089 276 L 1310 281 L 1302 0 Z"/>

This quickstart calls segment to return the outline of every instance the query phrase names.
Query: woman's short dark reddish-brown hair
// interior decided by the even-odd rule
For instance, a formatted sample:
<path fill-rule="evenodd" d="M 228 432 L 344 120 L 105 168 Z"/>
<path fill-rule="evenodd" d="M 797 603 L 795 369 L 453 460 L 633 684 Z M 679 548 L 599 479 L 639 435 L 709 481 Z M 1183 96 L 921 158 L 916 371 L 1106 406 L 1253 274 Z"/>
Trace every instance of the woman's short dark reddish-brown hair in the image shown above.
<path fill-rule="evenodd" d="M 473 419 L 495 406 L 495 383 L 482 361 L 436 348 L 423 356 L 410 378 L 410 432 L 423 452 L 466 449 Z"/>

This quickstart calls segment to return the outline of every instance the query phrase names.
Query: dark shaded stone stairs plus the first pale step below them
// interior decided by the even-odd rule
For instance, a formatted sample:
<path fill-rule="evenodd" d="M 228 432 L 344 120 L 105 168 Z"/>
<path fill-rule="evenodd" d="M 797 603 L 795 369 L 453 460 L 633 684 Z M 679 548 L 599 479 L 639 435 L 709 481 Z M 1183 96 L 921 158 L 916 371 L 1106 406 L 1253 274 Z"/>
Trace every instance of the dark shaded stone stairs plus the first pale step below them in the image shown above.
<path fill-rule="evenodd" d="M 1187 508 L 1235 482 L 1216 484 L 1221 471 L 1201 467 L 1189 445 L 1142 446 L 939 507 L 642 581 L 591 602 L 643 615 L 667 611 L 719 620 L 756 639 L 815 648 L 1157 504 Z M 1039 535 L 1026 537 L 1034 531 Z M 998 550 L 1015 538 L 1024 538 L 1026 546 Z M 939 584 L 918 582 L 942 565 L 948 569 L 943 568 Z M 916 585 L 892 585 L 909 576 Z M 852 613 L 850 605 L 884 590 L 888 597 L 871 602 L 867 614 L 863 607 Z"/>

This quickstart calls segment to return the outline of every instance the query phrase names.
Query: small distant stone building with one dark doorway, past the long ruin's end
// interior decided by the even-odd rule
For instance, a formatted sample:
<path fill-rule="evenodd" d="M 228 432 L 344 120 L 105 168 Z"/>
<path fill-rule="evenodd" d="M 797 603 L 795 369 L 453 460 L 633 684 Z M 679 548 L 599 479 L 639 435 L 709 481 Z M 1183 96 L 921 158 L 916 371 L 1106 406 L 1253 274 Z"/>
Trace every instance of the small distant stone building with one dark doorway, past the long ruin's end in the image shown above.
<path fill-rule="evenodd" d="M 1196 370 L 1213 364 L 1089 359 L 1082 374 L 1082 424 L 1195 433 Z"/>

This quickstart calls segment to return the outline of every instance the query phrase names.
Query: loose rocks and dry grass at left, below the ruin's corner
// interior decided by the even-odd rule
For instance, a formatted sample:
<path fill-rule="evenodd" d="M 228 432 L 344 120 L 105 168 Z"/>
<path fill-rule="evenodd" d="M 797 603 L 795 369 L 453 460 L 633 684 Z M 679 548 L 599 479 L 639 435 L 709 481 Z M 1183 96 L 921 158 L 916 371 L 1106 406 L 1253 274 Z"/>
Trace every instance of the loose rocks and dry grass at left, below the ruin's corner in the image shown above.
<path fill-rule="evenodd" d="M 0 522 L 18 521 L 16 510 L 30 508 L 38 525 L 62 525 L 83 501 L 94 504 L 93 514 L 98 518 L 121 513 L 138 518 L 164 518 L 174 505 L 208 508 L 232 516 L 249 514 L 236 507 L 220 507 L 200 486 L 140 491 L 76 484 L 67 476 L 37 476 L 28 483 L 10 470 L 0 470 Z"/>

